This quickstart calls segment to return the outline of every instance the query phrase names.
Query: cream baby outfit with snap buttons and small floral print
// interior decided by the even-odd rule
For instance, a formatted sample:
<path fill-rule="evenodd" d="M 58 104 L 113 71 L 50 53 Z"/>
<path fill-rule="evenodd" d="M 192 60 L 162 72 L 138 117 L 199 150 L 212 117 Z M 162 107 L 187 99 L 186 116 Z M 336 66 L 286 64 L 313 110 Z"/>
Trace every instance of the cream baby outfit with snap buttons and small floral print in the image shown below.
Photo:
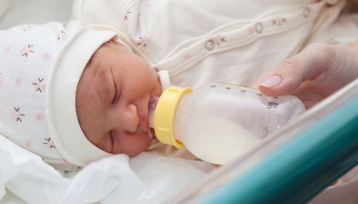
<path fill-rule="evenodd" d="M 344 5 L 339 0 L 76 0 L 72 18 L 121 33 L 158 71 L 163 90 L 170 84 L 195 89 L 212 82 L 250 86 L 309 43 L 354 42 L 358 28 L 340 15 Z M 159 142 L 148 150 L 195 159 L 184 148 Z"/>

